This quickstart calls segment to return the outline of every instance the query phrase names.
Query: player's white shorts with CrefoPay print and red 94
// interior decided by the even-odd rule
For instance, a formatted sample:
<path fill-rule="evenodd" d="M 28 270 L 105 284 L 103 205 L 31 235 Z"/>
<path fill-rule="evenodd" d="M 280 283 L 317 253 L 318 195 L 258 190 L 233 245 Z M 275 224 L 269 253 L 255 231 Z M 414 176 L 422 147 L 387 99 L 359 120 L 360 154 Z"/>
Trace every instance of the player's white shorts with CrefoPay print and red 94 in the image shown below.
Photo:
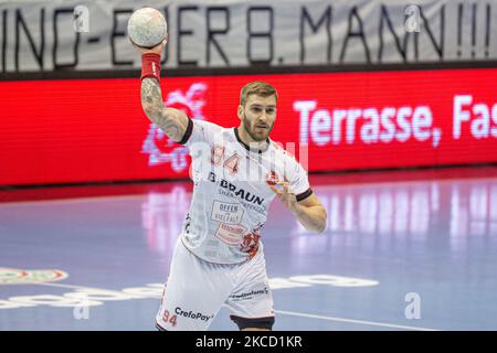
<path fill-rule="evenodd" d="M 213 264 L 193 255 L 178 238 L 157 328 L 207 330 L 223 304 L 240 329 L 272 328 L 273 296 L 263 252 L 243 264 Z"/>

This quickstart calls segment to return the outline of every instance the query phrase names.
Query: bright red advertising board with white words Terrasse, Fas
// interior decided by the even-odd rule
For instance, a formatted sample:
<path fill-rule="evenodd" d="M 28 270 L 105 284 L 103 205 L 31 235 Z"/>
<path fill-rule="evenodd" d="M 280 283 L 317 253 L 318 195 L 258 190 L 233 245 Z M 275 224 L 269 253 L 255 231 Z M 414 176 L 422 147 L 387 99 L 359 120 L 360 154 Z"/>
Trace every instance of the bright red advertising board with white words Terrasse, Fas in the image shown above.
<path fill-rule="evenodd" d="M 310 172 L 497 162 L 497 68 L 163 77 L 162 96 L 233 127 L 255 79 L 278 90 L 272 139 L 307 150 Z M 188 176 L 139 78 L 0 82 L 0 109 L 1 185 Z"/>

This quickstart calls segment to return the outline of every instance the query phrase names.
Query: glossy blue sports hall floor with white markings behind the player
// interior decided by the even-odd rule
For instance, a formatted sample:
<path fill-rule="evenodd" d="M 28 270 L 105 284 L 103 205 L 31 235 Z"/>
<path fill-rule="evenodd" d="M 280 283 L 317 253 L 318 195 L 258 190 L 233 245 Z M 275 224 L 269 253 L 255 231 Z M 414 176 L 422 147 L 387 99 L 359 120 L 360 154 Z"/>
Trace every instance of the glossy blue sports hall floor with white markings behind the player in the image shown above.
<path fill-rule="evenodd" d="M 497 330 L 497 167 L 310 181 L 327 232 L 275 201 L 262 233 L 275 330 Z M 155 330 L 190 196 L 189 182 L 0 190 L 0 330 Z M 210 330 L 236 330 L 226 309 Z"/>

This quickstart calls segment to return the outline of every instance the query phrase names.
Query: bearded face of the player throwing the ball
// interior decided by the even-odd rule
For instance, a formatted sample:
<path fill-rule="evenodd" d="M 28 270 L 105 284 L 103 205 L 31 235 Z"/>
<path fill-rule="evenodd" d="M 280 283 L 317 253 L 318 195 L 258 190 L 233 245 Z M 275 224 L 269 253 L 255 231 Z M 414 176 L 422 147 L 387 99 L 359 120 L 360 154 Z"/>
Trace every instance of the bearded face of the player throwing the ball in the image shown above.
<path fill-rule="evenodd" d="M 239 117 L 254 141 L 264 141 L 276 120 L 276 97 L 250 95 L 245 106 L 239 107 Z"/>

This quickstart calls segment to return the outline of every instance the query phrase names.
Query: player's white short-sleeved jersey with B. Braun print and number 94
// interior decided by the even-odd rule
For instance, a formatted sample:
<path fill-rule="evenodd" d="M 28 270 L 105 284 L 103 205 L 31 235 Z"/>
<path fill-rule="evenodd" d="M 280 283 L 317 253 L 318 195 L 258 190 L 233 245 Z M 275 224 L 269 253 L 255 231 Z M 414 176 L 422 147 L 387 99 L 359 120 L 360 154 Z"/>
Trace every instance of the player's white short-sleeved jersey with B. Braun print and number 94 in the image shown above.
<path fill-rule="evenodd" d="M 262 250 L 261 228 L 275 197 L 268 182 L 289 182 L 302 201 L 311 194 L 307 172 L 283 148 L 251 150 L 236 128 L 189 120 L 180 143 L 192 157 L 194 182 L 181 239 L 198 257 L 216 264 L 240 264 Z"/>

